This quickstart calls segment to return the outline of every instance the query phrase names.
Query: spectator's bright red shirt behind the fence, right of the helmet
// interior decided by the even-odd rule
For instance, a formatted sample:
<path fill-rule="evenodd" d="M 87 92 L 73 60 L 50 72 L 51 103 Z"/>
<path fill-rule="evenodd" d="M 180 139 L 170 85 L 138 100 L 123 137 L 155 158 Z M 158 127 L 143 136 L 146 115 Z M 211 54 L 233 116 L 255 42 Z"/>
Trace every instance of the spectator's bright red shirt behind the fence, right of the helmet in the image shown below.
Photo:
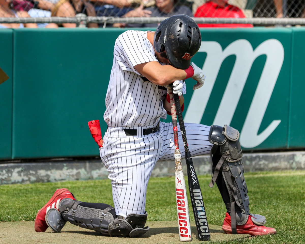
<path fill-rule="evenodd" d="M 228 0 L 213 0 L 198 7 L 194 17 L 246 18 L 242 9 L 228 4 Z M 198 24 L 199 27 L 253 27 L 252 24 Z"/>

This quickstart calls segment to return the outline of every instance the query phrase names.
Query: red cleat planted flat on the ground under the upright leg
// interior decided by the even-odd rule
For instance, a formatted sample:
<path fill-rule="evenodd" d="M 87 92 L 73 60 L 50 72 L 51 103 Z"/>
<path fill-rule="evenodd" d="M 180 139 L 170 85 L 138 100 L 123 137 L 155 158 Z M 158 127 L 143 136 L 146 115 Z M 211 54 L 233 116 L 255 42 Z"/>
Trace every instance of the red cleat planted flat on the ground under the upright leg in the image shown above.
<path fill-rule="evenodd" d="M 226 234 L 232 234 L 231 228 L 231 216 L 229 213 L 226 213 L 226 217 L 224 218 L 224 224 L 222 225 L 222 229 Z M 251 216 L 248 217 L 248 221 L 243 225 L 236 225 L 237 234 L 248 234 L 248 235 L 268 235 L 268 234 L 276 234 L 276 229 L 266 227 L 264 225 L 254 224 Z"/>

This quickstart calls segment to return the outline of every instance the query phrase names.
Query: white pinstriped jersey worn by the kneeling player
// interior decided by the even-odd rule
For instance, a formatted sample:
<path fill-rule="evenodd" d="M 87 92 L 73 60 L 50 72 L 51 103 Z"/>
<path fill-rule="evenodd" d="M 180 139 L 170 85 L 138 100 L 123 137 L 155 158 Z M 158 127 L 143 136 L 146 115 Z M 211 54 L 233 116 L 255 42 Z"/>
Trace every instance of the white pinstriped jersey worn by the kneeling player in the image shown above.
<path fill-rule="evenodd" d="M 162 103 L 166 88 L 151 83 L 134 68 L 141 63 L 159 62 L 147 32 L 127 30 L 115 42 L 104 113 L 111 127 L 151 126 L 166 118 Z"/>

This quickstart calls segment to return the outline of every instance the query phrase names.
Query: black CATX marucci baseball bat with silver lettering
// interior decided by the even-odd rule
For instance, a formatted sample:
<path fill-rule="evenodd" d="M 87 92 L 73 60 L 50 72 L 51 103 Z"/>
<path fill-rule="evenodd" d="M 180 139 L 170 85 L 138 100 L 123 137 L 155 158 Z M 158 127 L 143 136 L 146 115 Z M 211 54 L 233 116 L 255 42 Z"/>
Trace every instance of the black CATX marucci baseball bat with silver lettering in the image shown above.
<path fill-rule="evenodd" d="M 172 88 L 172 86 L 171 86 Z M 188 141 L 186 138 L 186 132 L 184 127 L 184 121 L 182 117 L 182 111 L 179 101 L 179 96 L 177 94 L 173 94 L 174 102 L 176 106 L 176 112 L 179 120 L 179 127 L 183 139 L 183 145 L 185 149 L 185 162 L 187 166 L 188 172 L 188 188 L 191 196 L 191 202 L 194 212 L 195 224 L 197 228 L 198 238 L 201 241 L 210 239 L 210 230 L 208 226 L 208 221 L 206 218 L 206 211 L 203 203 L 203 197 L 201 188 L 199 185 L 198 177 L 193 165 L 192 155 L 188 149 Z"/>

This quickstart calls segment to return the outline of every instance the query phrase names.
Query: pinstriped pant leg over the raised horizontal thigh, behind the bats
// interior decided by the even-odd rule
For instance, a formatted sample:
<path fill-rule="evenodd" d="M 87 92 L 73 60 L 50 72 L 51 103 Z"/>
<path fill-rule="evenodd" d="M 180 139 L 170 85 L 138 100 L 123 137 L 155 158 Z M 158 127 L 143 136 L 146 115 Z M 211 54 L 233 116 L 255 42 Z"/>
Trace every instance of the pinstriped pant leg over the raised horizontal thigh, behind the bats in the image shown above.
<path fill-rule="evenodd" d="M 192 156 L 210 154 L 213 144 L 209 141 L 210 126 L 203 124 L 185 123 L 188 148 Z M 174 160 L 174 131 L 172 123 L 160 123 L 160 129 L 163 130 L 163 142 L 160 155 L 160 161 Z M 178 123 L 178 139 L 181 158 L 185 157 L 183 140 Z"/>

